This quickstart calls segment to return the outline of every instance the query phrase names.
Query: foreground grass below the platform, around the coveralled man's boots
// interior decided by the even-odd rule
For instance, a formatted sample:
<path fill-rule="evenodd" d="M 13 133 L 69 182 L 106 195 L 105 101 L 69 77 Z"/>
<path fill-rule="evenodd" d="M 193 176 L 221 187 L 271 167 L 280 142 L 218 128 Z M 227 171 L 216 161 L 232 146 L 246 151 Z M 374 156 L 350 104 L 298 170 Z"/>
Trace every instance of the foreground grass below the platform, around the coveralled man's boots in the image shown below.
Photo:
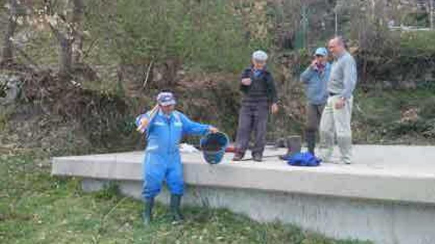
<path fill-rule="evenodd" d="M 0 156 L 0 243 L 286 243 L 362 244 L 335 241 L 292 225 L 263 224 L 224 209 L 184 208 L 174 225 L 167 208 L 156 207 L 145 228 L 141 203 L 109 188 L 93 194 L 77 178 L 50 176 L 44 156 L 34 152 Z"/>

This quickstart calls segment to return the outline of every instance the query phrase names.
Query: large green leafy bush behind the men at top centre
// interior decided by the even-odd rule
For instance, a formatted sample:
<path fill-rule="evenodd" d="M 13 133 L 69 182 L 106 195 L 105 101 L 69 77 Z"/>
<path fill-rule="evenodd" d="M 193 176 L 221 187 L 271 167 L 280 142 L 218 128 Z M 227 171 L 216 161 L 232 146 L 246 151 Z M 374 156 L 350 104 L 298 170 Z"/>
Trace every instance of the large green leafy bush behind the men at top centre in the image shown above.
<path fill-rule="evenodd" d="M 233 71 L 246 64 L 250 44 L 258 44 L 245 39 L 242 17 L 224 0 L 121 0 L 95 16 L 103 6 L 89 4 L 91 32 L 104 36 L 104 45 L 123 63 L 177 58 L 184 65 Z"/>

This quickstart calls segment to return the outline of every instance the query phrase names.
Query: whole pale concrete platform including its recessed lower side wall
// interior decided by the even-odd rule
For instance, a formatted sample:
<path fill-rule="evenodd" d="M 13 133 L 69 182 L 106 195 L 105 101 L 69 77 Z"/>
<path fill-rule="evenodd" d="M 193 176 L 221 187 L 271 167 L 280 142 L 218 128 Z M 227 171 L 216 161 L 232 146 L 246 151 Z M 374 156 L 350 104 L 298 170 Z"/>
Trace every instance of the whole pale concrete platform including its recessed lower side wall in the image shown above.
<path fill-rule="evenodd" d="M 282 153 L 268 149 L 265 155 Z M 143 152 L 58 157 L 52 174 L 82 176 L 89 191 L 116 180 L 123 193 L 140 198 L 142 157 Z M 435 244 L 435 147 L 358 145 L 354 164 L 315 168 L 288 166 L 277 157 L 262 163 L 231 158 L 208 165 L 201 154 L 182 154 L 184 203 L 294 223 L 334 238 Z M 167 195 L 160 201 L 167 202 Z"/>

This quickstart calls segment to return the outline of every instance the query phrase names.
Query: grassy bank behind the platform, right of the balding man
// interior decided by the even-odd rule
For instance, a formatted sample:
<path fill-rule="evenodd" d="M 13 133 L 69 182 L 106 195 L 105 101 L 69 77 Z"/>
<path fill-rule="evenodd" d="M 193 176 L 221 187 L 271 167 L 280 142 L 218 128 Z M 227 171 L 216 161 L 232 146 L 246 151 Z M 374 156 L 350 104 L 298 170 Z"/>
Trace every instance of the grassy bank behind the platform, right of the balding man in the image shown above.
<path fill-rule="evenodd" d="M 434 88 L 357 92 L 352 117 L 358 143 L 434 143 L 430 123 L 435 119 Z M 402 113 L 417 108 L 418 120 L 402 123 Z"/>

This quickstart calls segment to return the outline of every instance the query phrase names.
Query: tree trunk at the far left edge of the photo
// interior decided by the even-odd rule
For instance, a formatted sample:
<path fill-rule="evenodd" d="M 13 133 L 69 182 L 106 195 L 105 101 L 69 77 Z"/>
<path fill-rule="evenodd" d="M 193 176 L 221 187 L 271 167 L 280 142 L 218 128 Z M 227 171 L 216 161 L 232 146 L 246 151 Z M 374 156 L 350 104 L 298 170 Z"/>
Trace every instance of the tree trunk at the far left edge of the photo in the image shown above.
<path fill-rule="evenodd" d="M 7 23 L 6 35 L 4 36 L 4 44 L 1 57 L 2 64 L 11 63 L 14 59 L 12 37 L 14 36 L 15 29 L 17 27 L 17 1 L 9 0 L 9 7 L 9 21 Z"/>

